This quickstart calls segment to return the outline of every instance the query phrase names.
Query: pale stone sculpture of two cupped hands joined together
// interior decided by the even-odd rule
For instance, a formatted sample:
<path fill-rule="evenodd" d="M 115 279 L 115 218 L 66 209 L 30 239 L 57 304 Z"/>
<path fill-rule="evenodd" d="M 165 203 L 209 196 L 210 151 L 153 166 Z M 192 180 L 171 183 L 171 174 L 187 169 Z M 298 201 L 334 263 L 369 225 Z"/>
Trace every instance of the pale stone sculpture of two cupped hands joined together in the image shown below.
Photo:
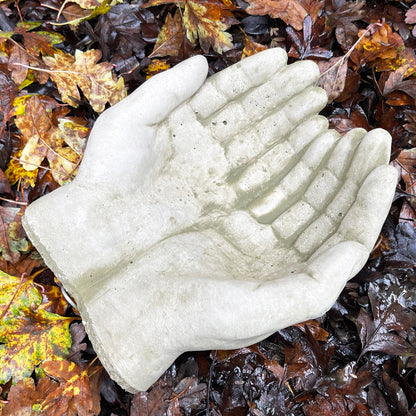
<path fill-rule="evenodd" d="M 365 264 L 397 175 L 390 135 L 340 137 L 310 61 L 270 49 L 205 80 L 202 56 L 105 111 L 79 174 L 24 226 L 125 389 L 184 351 L 317 317 Z"/>

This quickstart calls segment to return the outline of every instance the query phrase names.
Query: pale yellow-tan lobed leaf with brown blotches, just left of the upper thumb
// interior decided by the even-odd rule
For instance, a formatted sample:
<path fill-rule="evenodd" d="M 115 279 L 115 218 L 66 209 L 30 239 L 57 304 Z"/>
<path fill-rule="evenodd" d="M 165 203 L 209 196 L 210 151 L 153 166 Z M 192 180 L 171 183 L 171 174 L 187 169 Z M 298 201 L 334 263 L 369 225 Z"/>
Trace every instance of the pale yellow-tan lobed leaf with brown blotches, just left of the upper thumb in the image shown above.
<path fill-rule="evenodd" d="M 78 88 L 90 102 L 92 108 L 101 113 L 106 103 L 114 105 L 126 96 L 124 80 L 116 80 L 112 73 L 113 65 L 98 61 L 101 52 L 90 49 L 87 52 L 75 51 L 75 57 L 67 53 L 57 53 L 53 57 L 43 57 L 49 68 L 49 75 L 55 82 L 62 101 L 78 107 L 81 99 Z"/>

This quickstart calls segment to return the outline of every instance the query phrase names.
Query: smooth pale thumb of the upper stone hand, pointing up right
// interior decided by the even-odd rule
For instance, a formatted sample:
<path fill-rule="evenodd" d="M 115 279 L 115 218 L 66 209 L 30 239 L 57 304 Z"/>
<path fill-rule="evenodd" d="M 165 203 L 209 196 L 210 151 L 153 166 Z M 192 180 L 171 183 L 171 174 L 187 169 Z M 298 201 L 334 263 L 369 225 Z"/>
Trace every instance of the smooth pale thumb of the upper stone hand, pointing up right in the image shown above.
<path fill-rule="evenodd" d="M 120 103 L 126 108 L 125 121 L 131 123 L 133 117 L 145 125 L 159 123 L 201 87 L 207 72 L 206 59 L 197 55 L 153 76 Z"/>

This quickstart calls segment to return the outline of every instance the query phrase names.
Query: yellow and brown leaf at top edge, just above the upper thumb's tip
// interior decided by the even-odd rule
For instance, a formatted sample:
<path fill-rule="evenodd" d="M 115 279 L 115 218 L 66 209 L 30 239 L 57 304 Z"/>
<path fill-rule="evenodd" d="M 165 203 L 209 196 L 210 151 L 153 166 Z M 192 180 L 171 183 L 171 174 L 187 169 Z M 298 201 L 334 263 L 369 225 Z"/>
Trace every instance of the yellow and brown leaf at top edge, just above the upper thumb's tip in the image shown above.
<path fill-rule="evenodd" d="M 160 4 L 175 3 L 183 9 L 183 25 L 186 36 L 195 43 L 197 39 L 204 53 L 210 47 L 217 53 L 223 53 L 233 48 L 232 36 L 225 32 L 234 23 L 231 10 L 236 7 L 228 0 L 151 0 L 142 7 L 152 7 Z"/>

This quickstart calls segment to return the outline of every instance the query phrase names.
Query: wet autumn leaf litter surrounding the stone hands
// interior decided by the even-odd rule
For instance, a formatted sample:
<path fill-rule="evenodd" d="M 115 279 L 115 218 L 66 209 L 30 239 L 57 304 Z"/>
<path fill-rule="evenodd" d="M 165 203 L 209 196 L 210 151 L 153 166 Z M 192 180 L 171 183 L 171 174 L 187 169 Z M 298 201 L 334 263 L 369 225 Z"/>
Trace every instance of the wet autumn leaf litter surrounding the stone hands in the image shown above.
<path fill-rule="evenodd" d="M 406 1 L 0 0 L 0 414 L 416 416 L 415 24 Z M 196 54 L 213 74 L 271 47 L 318 63 L 332 128 L 391 133 L 390 214 L 326 315 L 184 354 L 129 394 L 27 240 L 24 210 L 73 179 L 98 115 L 146 78 Z"/>

